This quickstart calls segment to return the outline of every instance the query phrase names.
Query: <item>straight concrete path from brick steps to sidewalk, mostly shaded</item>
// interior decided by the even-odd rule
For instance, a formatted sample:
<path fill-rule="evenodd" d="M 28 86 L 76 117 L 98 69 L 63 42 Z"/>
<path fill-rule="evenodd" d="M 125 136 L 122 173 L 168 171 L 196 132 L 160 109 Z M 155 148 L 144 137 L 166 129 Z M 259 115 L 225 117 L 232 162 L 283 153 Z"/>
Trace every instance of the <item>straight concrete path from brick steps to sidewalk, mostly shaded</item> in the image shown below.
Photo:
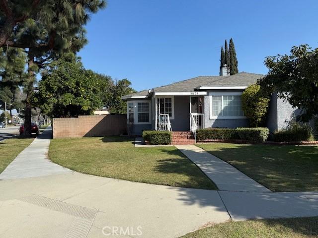
<path fill-rule="evenodd" d="M 227 162 L 195 145 L 176 145 L 217 186 L 224 191 L 271 192 L 255 180 L 241 173 Z"/>

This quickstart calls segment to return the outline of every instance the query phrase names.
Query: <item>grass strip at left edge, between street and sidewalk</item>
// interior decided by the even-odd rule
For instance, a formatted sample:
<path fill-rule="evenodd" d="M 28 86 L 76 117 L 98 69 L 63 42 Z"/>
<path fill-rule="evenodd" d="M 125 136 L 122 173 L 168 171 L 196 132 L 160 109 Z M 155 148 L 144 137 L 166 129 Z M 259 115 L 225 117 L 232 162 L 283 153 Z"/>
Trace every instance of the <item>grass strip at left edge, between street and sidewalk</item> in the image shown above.
<path fill-rule="evenodd" d="M 0 142 L 0 173 L 24 150 L 34 138 L 15 137 Z"/>

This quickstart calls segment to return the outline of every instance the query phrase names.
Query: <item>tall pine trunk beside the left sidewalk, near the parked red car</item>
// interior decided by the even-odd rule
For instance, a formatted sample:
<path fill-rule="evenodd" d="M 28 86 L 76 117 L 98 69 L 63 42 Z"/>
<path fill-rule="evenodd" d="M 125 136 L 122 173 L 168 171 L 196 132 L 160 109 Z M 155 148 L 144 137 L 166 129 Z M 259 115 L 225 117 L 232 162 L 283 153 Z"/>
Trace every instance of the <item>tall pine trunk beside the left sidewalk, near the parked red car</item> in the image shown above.
<path fill-rule="evenodd" d="M 34 57 L 30 54 L 28 55 L 28 84 L 26 89 L 26 103 L 25 103 L 25 114 L 24 114 L 24 135 L 31 135 L 31 118 L 32 118 L 32 105 L 31 105 L 31 93 L 33 92 L 34 86 L 34 71 L 32 66 L 34 64 Z"/>

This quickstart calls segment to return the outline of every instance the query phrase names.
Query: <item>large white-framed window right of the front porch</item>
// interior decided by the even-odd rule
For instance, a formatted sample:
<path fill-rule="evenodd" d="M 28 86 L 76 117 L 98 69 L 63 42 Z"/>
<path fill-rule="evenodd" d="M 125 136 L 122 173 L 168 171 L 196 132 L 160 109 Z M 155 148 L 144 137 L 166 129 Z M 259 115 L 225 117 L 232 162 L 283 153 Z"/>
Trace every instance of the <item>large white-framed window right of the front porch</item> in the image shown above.
<path fill-rule="evenodd" d="M 241 92 L 210 93 L 210 119 L 245 118 L 242 111 Z"/>

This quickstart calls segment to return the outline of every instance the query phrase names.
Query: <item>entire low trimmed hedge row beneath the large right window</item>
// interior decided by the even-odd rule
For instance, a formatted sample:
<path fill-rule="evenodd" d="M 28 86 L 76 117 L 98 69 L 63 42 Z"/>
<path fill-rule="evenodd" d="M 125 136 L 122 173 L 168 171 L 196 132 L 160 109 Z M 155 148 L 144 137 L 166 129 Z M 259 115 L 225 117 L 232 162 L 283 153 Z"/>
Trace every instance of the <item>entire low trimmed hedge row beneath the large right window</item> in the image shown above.
<path fill-rule="evenodd" d="M 206 128 L 198 129 L 197 140 L 221 139 L 221 140 L 250 140 L 264 142 L 269 135 L 269 129 L 265 127 L 256 128 Z"/>

